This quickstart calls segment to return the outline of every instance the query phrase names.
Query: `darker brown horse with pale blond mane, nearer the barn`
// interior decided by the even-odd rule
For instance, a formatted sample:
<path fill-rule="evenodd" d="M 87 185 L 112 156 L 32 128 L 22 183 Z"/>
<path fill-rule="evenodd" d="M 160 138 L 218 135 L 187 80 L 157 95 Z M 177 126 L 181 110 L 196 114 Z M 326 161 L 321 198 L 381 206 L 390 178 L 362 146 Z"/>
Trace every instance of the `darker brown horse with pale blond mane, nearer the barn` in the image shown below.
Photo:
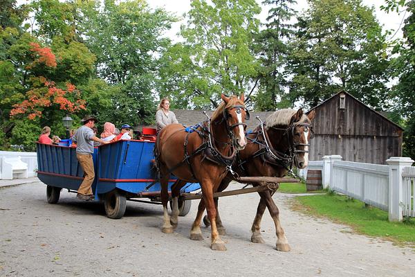
<path fill-rule="evenodd" d="M 308 147 L 312 138 L 311 120 L 315 117 L 315 111 L 308 116 L 303 114 L 302 109 L 282 109 L 275 111 L 266 118 L 264 125 L 259 125 L 254 132 L 247 135 L 248 145 L 239 152 L 239 157 L 234 170 L 239 176 L 267 176 L 284 177 L 288 170 L 294 165 L 297 168 L 305 168 L 308 165 Z M 223 179 L 219 191 L 228 187 L 232 176 Z M 252 184 L 259 186 L 260 184 Z M 259 192 L 261 199 L 257 208 L 257 215 L 252 223 L 251 241 L 264 243 L 261 236 L 261 219 L 265 208 L 268 208 L 275 223 L 277 233 L 277 250 L 290 251 L 288 240 L 279 222 L 279 210 L 272 198 L 274 191 L 265 190 Z M 216 211 L 218 199 L 214 199 Z M 203 206 L 203 203 L 199 204 Z M 210 224 L 205 217 L 205 224 Z M 225 228 L 221 222 L 219 211 L 216 213 L 216 226 L 221 235 L 225 234 Z"/>

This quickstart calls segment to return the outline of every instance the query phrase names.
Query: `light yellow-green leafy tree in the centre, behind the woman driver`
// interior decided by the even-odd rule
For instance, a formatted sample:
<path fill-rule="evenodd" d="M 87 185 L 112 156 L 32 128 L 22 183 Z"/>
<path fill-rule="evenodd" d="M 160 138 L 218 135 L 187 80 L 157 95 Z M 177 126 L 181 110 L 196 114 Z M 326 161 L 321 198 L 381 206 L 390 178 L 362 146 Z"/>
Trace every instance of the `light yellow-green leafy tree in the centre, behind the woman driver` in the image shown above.
<path fill-rule="evenodd" d="M 220 93 L 252 89 L 259 62 L 252 51 L 260 8 L 255 0 L 195 0 L 182 26 L 185 42 L 162 58 L 161 94 L 185 98 L 183 107 L 212 107 Z"/>

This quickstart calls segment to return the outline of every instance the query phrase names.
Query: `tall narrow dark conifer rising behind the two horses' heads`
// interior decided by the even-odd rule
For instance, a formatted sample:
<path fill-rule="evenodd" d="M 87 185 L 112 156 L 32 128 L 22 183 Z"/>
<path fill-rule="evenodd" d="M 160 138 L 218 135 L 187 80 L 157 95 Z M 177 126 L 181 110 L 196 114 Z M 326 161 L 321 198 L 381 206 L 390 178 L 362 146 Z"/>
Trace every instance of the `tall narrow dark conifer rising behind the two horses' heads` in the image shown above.
<path fill-rule="evenodd" d="M 293 36 L 294 28 L 287 22 L 295 15 L 291 8 L 295 0 L 266 0 L 270 6 L 266 18 L 266 28 L 258 36 L 261 70 L 259 74 L 259 92 L 255 97 L 255 109 L 274 111 L 277 107 L 287 107 L 284 97 L 287 76 L 284 73 L 288 55 L 287 41 Z"/>

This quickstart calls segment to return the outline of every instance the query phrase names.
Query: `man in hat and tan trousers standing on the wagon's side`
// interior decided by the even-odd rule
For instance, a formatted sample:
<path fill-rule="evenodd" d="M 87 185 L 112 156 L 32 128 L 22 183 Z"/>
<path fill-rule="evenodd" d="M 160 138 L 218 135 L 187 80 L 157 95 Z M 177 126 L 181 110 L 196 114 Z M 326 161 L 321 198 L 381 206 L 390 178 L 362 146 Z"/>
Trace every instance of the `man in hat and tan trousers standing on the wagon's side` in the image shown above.
<path fill-rule="evenodd" d="M 94 116 L 85 116 L 81 122 L 83 123 L 82 127 L 77 129 L 72 137 L 73 141 L 77 143 L 77 160 L 79 161 L 85 174 L 84 181 L 82 181 L 80 188 L 78 188 L 76 197 L 77 199 L 89 201 L 94 198 L 91 188 L 93 179 L 95 178 L 95 170 L 93 168 L 92 160 L 93 142 L 107 142 L 102 141 L 102 139 L 99 139 L 93 133 L 92 128 L 95 126 L 95 123 L 98 122 L 97 118 Z"/>

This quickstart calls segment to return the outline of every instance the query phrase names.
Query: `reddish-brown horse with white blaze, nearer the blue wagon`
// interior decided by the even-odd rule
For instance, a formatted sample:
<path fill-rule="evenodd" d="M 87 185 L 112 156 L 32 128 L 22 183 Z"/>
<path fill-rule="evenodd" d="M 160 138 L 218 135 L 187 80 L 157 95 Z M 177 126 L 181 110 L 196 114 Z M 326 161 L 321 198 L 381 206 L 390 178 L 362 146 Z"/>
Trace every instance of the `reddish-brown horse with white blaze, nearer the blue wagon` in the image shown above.
<path fill-rule="evenodd" d="M 244 127 L 248 111 L 244 97 L 221 96 L 223 102 L 214 111 L 212 119 L 205 121 L 194 132 L 185 132 L 183 125 L 167 125 L 158 134 L 154 154 L 160 173 L 161 199 L 164 208 L 163 233 L 172 233 L 177 225 L 178 190 L 185 182 L 199 182 L 208 217 L 212 222 L 213 250 L 226 250 L 216 229 L 216 208 L 213 193 L 227 175 L 236 152 L 246 146 Z M 169 195 L 167 181 L 172 173 L 178 178 L 172 192 L 172 219 L 167 213 Z M 204 211 L 204 208 L 203 208 Z M 200 223 L 203 211 L 198 213 L 192 226 L 192 240 L 201 239 Z M 173 225 L 172 225 L 173 224 Z"/>

